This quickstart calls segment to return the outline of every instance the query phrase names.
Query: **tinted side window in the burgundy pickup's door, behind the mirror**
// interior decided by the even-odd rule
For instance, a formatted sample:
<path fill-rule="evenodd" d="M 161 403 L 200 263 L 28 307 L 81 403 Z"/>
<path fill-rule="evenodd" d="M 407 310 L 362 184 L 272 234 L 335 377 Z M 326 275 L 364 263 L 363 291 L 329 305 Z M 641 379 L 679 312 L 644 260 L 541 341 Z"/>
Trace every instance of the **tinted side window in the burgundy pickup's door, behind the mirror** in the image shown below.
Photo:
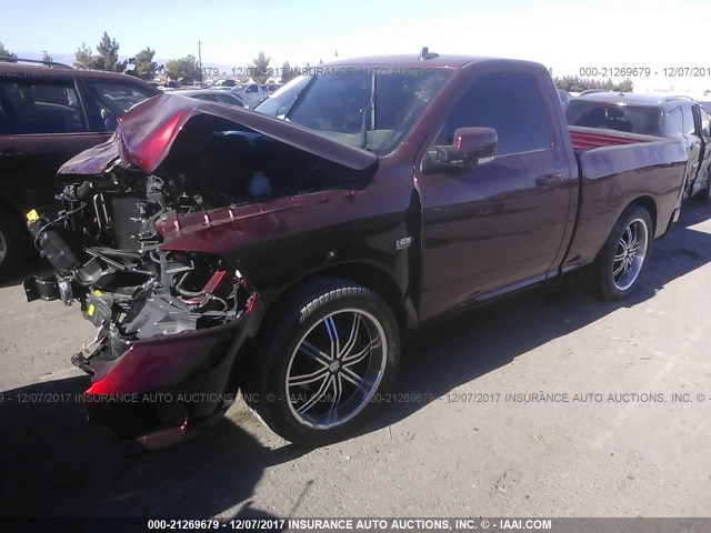
<path fill-rule="evenodd" d="M 548 113 L 531 74 L 489 74 L 467 91 L 438 135 L 438 144 L 451 144 L 454 130 L 484 127 L 497 130 L 497 154 L 530 152 L 551 147 Z"/>

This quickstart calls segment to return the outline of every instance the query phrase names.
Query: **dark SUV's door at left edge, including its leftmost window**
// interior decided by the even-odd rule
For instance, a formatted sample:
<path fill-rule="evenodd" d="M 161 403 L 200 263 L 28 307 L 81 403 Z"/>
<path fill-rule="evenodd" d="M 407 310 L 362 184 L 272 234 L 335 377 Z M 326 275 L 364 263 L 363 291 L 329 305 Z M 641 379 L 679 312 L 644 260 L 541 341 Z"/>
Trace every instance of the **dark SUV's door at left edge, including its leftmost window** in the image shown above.
<path fill-rule="evenodd" d="M 0 194 L 52 214 L 57 170 L 101 142 L 89 130 L 73 80 L 0 81 Z"/>

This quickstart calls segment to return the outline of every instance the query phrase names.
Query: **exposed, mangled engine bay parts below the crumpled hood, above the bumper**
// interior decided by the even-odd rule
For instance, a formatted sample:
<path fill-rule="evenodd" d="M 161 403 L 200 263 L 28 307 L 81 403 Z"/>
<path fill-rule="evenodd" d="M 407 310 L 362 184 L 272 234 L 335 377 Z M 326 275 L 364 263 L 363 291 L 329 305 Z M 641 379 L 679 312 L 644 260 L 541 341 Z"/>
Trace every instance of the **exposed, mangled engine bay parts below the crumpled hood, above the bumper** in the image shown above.
<path fill-rule="evenodd" d="M 114 359 L 136 341 L 224 324 L 244 312 L 253 292 L 216 255 L 160 250 L 157 221 L 201 209 L 174 183 L 117 164 L 92 181 L 66 184 L 56 221 L 36 218 L 36 245 L 59 274 L 27 280 L 28 300 L 81 303 L 109 339 L 90 356 Z M 34 218 L 34 215 L 32 215 Z M 83 354 L 74 363 L 92 373 Z"/>

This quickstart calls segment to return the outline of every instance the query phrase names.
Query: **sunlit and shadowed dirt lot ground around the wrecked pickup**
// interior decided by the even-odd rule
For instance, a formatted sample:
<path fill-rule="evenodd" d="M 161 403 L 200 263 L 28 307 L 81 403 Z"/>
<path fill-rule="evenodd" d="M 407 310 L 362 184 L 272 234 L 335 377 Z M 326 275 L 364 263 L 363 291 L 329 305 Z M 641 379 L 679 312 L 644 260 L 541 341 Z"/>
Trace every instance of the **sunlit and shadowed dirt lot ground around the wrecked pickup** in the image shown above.
<path fill-rule="evenodd" d="M 630 301 L 571 285 L 418 333 L 393 401 L 319 450 L 238 404 L 199 439 L 123 456 L 82 405 L 28 401 L 86 388 L 69 358 L 93 332 L 78 309 L 7 284 L 0 514 L 710 515 L 710 218 L 687 207 Z"/>

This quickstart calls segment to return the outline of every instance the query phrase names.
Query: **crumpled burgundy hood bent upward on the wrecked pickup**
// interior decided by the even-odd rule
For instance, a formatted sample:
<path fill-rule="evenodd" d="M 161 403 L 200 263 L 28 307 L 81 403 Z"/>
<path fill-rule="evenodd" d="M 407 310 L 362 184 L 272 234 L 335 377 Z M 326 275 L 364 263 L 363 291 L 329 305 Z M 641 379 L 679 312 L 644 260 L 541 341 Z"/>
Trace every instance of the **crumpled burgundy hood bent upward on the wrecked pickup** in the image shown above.
<path fill-rule="evenodd" d="M 168 157 L 188 121 L 203 113 L 231 120 L 353 170 L 365 169 L 378 161 L 372 152 L 256 111 L 177 94 L 159 94 L 123 114 L 111 139 L 67 161 L 59 169 L 59 174 L 100 174 L 119 158 L 122 164 L 137 167 L 151 174 Z"/>

